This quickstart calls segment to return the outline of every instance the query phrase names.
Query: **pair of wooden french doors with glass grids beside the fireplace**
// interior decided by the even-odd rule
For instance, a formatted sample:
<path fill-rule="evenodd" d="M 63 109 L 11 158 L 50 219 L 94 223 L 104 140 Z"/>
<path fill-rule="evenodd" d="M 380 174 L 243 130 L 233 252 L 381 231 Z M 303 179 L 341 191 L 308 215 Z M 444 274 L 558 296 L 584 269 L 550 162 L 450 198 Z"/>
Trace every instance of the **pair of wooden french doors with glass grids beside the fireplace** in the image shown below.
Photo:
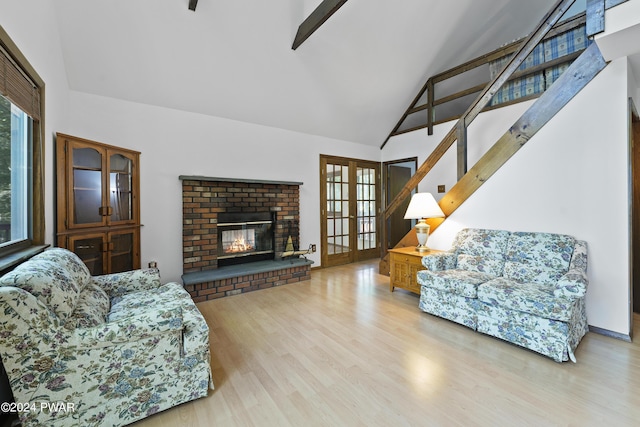
<path fill-rule="evenodd" d="M 380 256 L 380 163 L 320 156 L 321 261 Z"/>

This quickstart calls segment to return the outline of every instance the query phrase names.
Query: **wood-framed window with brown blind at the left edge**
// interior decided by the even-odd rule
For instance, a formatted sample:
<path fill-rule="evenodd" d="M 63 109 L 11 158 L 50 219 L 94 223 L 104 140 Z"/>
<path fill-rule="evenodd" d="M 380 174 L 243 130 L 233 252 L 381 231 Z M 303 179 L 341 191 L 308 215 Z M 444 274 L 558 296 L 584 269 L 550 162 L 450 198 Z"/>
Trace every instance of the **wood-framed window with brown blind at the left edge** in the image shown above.
<path fill-rule="evenodd" d="M 43 90 L 0 27 L 0 274 L 44 247 Z"/>

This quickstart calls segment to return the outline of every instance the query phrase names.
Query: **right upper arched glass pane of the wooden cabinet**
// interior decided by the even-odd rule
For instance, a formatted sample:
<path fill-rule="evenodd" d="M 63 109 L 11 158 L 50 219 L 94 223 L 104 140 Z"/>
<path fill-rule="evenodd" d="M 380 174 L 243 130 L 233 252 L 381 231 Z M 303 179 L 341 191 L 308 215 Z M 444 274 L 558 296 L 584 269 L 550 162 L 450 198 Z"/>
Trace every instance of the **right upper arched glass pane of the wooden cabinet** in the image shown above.
<path fill-rule="evenodd" d="M 133 219 L 132 173 L 133 161 L 121 154 L 109 159 L 109 197 L 111 203 L 111 221 Z"/>

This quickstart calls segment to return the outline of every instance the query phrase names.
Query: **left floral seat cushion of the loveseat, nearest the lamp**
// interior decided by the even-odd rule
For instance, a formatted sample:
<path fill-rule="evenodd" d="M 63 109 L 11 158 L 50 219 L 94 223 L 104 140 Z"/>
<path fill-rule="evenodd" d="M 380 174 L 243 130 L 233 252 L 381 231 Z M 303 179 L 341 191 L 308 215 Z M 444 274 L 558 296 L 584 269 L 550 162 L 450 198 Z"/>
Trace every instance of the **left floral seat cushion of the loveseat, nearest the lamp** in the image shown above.
<path fill-rule="evenodd" d="M 439 291 L 450 292 L 468 298 L 477 297 L 477 287 L 495 276 L 466 270 L 443 270 L 418 272 L 418 283 Z"/>

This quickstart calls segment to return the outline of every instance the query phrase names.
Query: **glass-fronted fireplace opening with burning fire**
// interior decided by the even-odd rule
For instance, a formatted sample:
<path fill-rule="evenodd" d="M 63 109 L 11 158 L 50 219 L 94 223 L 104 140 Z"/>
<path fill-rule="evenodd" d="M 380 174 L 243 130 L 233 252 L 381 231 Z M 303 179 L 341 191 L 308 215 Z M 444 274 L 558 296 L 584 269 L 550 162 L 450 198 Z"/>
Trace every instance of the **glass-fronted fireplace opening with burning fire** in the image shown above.
<path fill-rule="evenodd" d="M 218 266 L 274 259 L 271 212 L 218 214 Z"/>

